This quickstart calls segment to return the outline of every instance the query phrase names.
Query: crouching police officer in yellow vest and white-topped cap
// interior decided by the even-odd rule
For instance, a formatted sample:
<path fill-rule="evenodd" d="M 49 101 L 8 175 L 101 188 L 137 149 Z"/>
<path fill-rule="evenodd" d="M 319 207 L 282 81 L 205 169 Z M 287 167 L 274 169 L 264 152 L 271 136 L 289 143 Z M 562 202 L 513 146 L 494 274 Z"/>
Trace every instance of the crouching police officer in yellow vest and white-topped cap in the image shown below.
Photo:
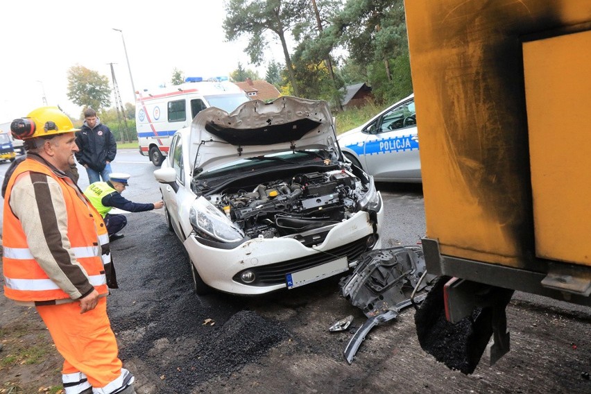
<path fill-rule="evenodd" d="M 85 196 L 92 205 L 103 216 L 110 241 L 123 238 L 123 234 L 117 234 L 127 225 L 127 218 L 122 214 L 110 214 L 110 210 L 115 208 L 123 209 L 128 212 L 144 212 L 152 209 L 160 209 L 164 205 L 162 201 L 155 203 L 132 203 L 130 200 L 121 196 L 123 190 L 128 187 L 128 180 L 131 175 L 127 173 L 111 173 L 107 182 L 94 182 L 84 191 Z"/>

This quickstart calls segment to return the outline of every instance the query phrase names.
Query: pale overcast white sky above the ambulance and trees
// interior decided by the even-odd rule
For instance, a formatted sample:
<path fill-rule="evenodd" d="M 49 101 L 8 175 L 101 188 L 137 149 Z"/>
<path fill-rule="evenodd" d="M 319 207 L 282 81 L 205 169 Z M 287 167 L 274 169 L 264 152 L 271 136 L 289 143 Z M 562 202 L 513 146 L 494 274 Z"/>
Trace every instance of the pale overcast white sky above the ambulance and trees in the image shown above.
<path fill-rule="evenodd" d="M 67 70 L 80 65 L 107 76 L 114 63 L 123 103 L 134 103 L 121 33 L 135 89 L 170 83 L 176 67 L 185 76 L 228 76 L 246 41 L 225 42 L 223 0 L 38 1 L 0 3 L 0 123 L 44 105 L 60 105 L 72 117 L 81 108 L 67 96 Z M 270 53 L 283 62 L 280 46 Z M 264 62 L 272 60 L 266 55 Z M 264 78 L 264 65 L 257 69 Z M 114 99 L 111 97 L 114 104 Z"/>

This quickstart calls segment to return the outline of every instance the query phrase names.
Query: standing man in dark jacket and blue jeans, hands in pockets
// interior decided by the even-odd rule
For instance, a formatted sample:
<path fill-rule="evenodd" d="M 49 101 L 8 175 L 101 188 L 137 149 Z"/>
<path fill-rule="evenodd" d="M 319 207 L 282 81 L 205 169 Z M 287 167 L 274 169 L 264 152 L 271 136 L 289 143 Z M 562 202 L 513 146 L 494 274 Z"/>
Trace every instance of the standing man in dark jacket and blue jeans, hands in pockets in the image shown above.
<path fill-rule="evenodd" d="M 84 111 L 84 124 L 76 132 L 76 145 L 79 151 L 76 160 L 84 166 L 88 174 L 88 182 L 103 182 L 109 180 L 111 162 L 117 155 L 117 142 L 110 128 L 101 123 L 96 117 L 96 111 L 87 108 Z"/>

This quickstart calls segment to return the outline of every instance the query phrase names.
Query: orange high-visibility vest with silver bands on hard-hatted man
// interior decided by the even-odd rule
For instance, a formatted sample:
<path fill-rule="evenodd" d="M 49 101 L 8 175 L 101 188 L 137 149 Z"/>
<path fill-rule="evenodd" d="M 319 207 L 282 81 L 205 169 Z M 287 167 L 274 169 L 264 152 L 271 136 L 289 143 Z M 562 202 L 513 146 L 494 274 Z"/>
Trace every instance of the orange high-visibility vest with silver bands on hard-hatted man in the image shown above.
<path fill-rule="evenodd" d="M 108 239 L 108 235 L 101 215 L 87 202 L 80 189 L 70 178 L 54 173 L 48 166 L 31 158 L 24 160 L 17 166 L 6 188 L 3 209 L 5 229 L 3 232 L 4 294 L 12 300 L 24 302 L 53 300 L 66 302 L 71 299 L 70 295 L 62 290 L 35 261 L 35 257 L 28 248 L 26 234 L 19 218 L 10 209 L 10 192 L 15 180 L 27 172 L 43 173 L 53 178 L 62 188 L 67 209 L 67 237 L 70 242 L 70 250 L 74 253 L 76 262 L 84 268 L 87 274 L 80 275 L 82 270 L 79 266 L 71 264 L 70 259 L 65 262 L 63 261 L 65 258 L 60 258 L 59 263 L 65 267 L 62 270 L 63 275 L 76 277 L 76 280 L 73 281 L 76 288 L 92 289 L 88 286 L 88 284 L 92 284 L 101 295 L 107 294 L 105 271 L 101 259 L 101 243 L 105 243 L 103 238 Z M 48 244 L 51 242 L 48 239 L 38 241 Z M 53 240 L 53 242 L 60 242 L 60 240 Z M 65 255 L 67 253 L 61 254 L 62 257 Z"/>

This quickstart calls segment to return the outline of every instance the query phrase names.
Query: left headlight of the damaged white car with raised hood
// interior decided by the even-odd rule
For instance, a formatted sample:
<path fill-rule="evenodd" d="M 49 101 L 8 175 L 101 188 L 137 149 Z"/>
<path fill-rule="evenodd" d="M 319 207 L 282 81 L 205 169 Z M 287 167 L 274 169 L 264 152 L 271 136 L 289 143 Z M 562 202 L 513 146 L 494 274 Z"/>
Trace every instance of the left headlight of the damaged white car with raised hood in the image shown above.
<path fill-rule="evenodd" d="M 242 230 L 234 227 L 234 223 L 203 196 L 191 206 L 189 222 L 198 234 L 207 234 L 218 241 L 237 242 L 244 237 Z"/>

